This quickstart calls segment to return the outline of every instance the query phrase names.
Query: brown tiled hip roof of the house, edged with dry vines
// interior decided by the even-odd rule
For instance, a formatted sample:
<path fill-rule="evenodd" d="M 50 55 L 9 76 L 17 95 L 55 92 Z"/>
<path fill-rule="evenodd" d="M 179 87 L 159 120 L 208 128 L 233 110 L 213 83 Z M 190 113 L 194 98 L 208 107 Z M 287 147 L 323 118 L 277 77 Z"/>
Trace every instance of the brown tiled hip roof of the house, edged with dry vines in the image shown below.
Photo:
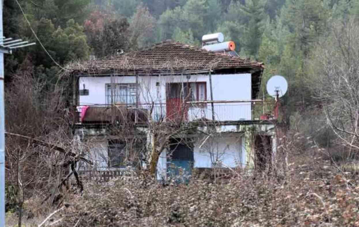
<path fill-rule="evenodd" d="M 174 41 L 108 58 L 71 63 L 67 69 L 74 74 L 163 73 L 204 70 L 239 69 L 262 71 L 263 64 L 225 53 L 214 53 Z"/>

